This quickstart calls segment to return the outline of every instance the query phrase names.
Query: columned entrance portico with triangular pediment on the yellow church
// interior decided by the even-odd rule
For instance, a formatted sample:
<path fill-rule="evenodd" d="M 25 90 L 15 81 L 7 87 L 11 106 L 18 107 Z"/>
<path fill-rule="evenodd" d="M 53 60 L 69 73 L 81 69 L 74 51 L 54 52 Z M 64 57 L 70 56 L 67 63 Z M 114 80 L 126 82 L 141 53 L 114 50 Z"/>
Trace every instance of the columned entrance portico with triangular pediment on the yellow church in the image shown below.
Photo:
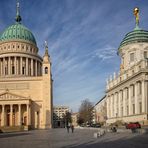
<path fill-rule="evenodd" d="M 0 94 L 0 126 L 30 126 L 31 100 L 9 92 Z"/>

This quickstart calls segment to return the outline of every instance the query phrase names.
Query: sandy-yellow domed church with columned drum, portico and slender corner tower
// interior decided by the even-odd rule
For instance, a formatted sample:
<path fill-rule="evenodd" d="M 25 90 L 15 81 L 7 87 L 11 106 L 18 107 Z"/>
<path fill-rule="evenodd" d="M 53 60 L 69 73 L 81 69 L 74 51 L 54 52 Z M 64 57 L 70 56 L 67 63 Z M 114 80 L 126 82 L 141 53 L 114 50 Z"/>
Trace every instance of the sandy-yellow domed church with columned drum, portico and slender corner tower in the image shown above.
<path fill-rule="evenodd" d="M 19 2 L 15 23 L 0 32 L 0 129 L 52 127 L 52 75 L 48 45 L 38 55 L 32 32 L 22 23 Z"/>

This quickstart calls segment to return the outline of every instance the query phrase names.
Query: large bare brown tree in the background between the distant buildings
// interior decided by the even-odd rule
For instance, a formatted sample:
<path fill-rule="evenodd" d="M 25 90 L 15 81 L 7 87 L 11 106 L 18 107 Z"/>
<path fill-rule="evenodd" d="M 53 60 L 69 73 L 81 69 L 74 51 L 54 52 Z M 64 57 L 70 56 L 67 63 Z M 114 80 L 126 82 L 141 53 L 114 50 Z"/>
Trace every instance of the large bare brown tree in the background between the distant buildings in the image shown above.
<path fill-rule="evenodd" d="M 91 124 L 93 119 L 93 103 L 88 99 L 82 101 L 79 108 L 78 124 Z"/>

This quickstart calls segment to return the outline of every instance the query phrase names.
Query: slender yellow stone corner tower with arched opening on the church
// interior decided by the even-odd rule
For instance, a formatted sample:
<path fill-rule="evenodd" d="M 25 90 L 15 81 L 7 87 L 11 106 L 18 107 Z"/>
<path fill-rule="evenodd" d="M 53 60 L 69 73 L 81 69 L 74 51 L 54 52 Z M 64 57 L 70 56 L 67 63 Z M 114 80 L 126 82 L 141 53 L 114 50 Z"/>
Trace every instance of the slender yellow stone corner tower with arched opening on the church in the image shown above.
<path fill-rule="evenodd" d="M 51 61 L 50 56 L 48 54 L 48 45 L 45 41 L 45 54 L 43 56 L 43 112 L 44 112 L 44 120 L 43 123 L 44 128 L 52 127 L 52 75 L 51 75 Z"/>

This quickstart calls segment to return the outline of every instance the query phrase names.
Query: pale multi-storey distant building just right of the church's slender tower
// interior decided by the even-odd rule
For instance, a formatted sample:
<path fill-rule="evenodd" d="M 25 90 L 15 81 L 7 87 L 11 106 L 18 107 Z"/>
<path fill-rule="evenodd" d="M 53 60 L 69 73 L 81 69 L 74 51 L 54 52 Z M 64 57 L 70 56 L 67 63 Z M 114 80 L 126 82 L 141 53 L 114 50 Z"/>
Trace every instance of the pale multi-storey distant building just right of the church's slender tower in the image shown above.
<path fill-rule="evenodd" d="M 54 127 L 65 127 L 64 116 L 66 112 L 70 112 L 68 106 L 54 106 L 53 107 L 53 126 Z"/>

